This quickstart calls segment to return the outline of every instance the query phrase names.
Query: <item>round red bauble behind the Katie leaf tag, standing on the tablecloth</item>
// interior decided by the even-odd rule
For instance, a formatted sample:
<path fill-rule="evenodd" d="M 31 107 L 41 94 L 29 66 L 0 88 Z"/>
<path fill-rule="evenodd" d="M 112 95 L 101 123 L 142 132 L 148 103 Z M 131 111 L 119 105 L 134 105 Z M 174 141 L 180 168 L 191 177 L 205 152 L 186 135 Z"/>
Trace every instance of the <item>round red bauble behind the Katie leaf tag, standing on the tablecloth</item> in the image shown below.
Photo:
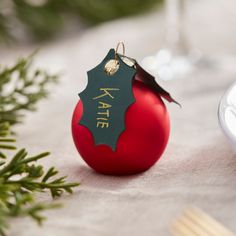
<path fill-rule="evenodd" d="M 135 103 L 125 115 L 125 131 L 116 150 L 95 145 L 92 133 L 79 124 L 83 104 L 78 102 L 72 118 L 74 143 L 84 161 L 95 171 L 110 175 L 135 174 L 149 169 L 162 155 L 170 132 L 168 111 L 160 96 L 141 81 L 133 82 Z"/>

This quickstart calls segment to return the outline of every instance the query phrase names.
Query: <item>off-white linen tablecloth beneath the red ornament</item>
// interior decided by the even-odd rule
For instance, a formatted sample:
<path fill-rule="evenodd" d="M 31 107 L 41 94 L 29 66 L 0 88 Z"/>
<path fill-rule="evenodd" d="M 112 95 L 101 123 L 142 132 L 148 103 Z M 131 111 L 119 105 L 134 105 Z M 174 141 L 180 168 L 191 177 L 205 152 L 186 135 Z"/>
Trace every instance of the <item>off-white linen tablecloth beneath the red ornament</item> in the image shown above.
<path fill-rule="evenodd" d="M 193 13 L 196 7 L 199 11 L 203 8 L 201 4 L 194 6 Z M 210 3 L 205 7 L 211 9 Z M 217 17 L 220 7 L 209 12 L 215 16 L 213 28 L 223 24 Z M 192 24 L 194 46 L 199 44 L 201 50 L 214 55 L 221 40 L 219 53 L 236 51 L 232 47 L 235 32 L 231 39 L 225 36 L 223 40 L 197 20 Z M 212 37 L 200 34 L 201 30 L 212 33 Z M 232 30 L 222 25 L 222 32 L 229 34 Z M 228 65 L 227 72 L 217 68 L 198 70 L 188 78 L 160 82 L 183 107 L 167 104 L 171 117 L 168 147 L 161 160 L 145 173 L 127 177 L 97 174 L 82 161 L 73 144 L 71 116 L 77 94 L 86 85 L 86 71 L 119 40 L 125 42 L 127 55 L 140 59 L 157 50 L 162 39 L 163 15 L 154 13 L 111 22 L 41 47 L 37 64 L 52 71 L 62 70 L 63 75 L 50 98 L 39 104 L 38 112 L 28 114 L 24 125 L 18 127 L 18 146 L 32 154 L 50 150 L 51 157 L 42 163 L 55 165 L 81 186 L 73 195 L 59 200 L 64 208 L 46 213 L 48 220 L 42 228 L 30 219 L 12 220 L 10 236 L 166 236 L 171 221 L 189 205 L 202 208 L 236 231 L 236 157 L 217 120 L 220 97 L 235 81 L 235 64 Z M 34 48 L 5 49 L 1 61 L 10 61 Z"/>

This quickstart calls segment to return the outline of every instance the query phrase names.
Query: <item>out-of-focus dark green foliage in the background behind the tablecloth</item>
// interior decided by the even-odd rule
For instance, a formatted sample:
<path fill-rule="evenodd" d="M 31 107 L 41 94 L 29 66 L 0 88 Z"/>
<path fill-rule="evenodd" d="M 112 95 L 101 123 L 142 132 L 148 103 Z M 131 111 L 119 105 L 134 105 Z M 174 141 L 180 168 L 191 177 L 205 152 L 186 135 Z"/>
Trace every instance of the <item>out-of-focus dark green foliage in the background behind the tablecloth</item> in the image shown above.
<path fill-rule="evenodd" d="M 78 30 L 147 12 L 162 4 L 163 0 L 3 0 L 1 42 L 42 42 L 72 36 Z"/>

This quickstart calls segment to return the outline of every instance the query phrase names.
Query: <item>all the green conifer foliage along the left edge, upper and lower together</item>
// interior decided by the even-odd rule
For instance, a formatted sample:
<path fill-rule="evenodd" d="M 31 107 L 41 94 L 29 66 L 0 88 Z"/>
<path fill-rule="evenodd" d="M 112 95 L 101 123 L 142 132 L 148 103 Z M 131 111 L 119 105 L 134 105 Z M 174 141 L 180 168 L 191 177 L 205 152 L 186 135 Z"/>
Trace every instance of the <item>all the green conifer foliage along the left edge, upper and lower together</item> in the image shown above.
<path fill-rule="evenodd" d="M 56 203 L 38 202 L 36 192 L 49 192 L 52 198 L 72 193 L 79 183 L 66 182 L 54 167 L 47 171 L 38 163 L 49 152 L 29 156 L 25 149 L 16 151 L 11 126 L 22 122 L 25 111 L 33 111 L 36 103 L 48 94 L 47 85 L 57 76 L 44 70 L 31 71 L 32 56 L 20 59 L 14 66 L 0 68 L 0 235 L 6 235 L 11 217 L 29 216 L 38 224 L 42 212 L 59 207 Z"/>

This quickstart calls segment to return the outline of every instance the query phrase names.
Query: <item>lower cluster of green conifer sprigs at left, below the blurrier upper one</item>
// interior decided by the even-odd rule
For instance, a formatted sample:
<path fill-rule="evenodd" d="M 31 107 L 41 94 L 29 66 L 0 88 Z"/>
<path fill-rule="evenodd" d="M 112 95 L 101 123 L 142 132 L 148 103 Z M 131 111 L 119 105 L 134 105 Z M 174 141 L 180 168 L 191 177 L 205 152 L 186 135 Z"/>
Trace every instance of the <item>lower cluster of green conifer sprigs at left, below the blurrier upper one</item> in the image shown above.
<path fill-rule="evenodd" d="M 26 150 L 21 149 L 10 161 L 4 161 L 0 168 L 0 235 L 8 217 L 30 216 L 41 224 L 44 217 L 40 213 L 59 206 L 54 203 L 35 203 L 34 192 L 49 190 L 51 196 L 56 198 L 63 192 L 72 193 L 72 188 L 79 185 L 66 183 L 66 176 L 55 178 L 58 171 L 54 167 L 45 172 L 37 161 L 48 155 L 45 152 L 28 157 Z"/>

